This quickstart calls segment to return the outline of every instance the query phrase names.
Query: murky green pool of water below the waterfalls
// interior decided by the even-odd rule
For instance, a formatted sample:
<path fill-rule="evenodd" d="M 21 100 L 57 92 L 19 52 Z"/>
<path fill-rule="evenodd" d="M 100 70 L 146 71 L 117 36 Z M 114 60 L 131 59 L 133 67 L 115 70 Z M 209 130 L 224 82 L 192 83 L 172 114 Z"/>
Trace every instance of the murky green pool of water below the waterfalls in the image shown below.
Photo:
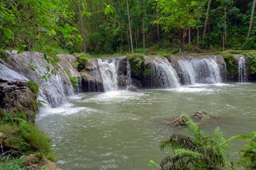
<path fill-rule="evenodd" d="M 163 120 L 206 110 L 220 117 L 206 130 L 247 133 L 256 129 L 255 98 L 256 84 L 79 94 L 60 108 L 45 108 L 36 123 L 52 138 L 62 169 L 150 169 L 148 160 L 167 155 L 160 142 L 182 132 Z"/>

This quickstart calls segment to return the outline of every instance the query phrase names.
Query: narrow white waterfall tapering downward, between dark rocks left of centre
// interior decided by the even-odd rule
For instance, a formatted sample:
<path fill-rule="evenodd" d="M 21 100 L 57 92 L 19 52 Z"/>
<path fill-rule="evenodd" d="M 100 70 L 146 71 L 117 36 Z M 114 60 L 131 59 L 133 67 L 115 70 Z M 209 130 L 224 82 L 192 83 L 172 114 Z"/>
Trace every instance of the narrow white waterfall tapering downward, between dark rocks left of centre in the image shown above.
<path fill-rule="evenodd" d="M 118 70 L 118 60 L 98 60 L 99 71 L 101 72 L 101 79 L 104 86 L 104 91 L 117 91 L 118 81 L 117 81 L 117 70 Z"/>

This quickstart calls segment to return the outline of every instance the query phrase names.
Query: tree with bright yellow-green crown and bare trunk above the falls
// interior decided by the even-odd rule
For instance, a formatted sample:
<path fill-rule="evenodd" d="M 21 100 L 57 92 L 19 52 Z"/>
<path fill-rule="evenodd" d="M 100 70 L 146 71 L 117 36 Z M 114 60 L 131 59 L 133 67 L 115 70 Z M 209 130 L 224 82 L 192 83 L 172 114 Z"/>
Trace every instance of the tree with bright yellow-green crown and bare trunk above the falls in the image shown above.
<path fill-rule="evenodd" d="M 199 0 L 157 0 L 159 23 L 165 31 L 179 33 L 179 52 L 184 53 L 184 40 L 189 28 L 196 28 L 196 22 L 203 15 L 204 3 Z"/>

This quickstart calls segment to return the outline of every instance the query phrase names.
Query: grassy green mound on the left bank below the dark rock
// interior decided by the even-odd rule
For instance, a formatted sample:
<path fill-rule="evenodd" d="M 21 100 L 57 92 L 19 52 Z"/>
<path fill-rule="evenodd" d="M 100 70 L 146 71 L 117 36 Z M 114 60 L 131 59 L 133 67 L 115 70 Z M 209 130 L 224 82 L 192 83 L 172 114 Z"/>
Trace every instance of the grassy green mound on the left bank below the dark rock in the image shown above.
<path fill-rule="evenodd" d="M 5 142 L 11 148 L 11 153 L 19 155 L 20 153 L 40 152 L 46 157 L 53 155 L 49 137 L 32 123 L 28 123 L 24 117 L 26 117 L 25 113 L 16 115 L 9 115 L 6 111 L 0 113 L 0 132 L 8 136 Z"/>

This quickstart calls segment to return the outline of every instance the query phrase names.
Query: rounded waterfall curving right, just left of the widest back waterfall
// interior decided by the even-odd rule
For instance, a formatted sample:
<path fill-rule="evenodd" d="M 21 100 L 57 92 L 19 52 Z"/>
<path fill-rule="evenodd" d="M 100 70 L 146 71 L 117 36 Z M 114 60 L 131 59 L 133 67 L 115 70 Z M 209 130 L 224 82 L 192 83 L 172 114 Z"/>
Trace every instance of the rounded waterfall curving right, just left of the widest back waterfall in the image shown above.
<path fill-rule="evenodd" d="M 155 57 L 150 62 L 150 84 L 163 89 L 179 87 L 177 72 L 166 58 Z"/>

